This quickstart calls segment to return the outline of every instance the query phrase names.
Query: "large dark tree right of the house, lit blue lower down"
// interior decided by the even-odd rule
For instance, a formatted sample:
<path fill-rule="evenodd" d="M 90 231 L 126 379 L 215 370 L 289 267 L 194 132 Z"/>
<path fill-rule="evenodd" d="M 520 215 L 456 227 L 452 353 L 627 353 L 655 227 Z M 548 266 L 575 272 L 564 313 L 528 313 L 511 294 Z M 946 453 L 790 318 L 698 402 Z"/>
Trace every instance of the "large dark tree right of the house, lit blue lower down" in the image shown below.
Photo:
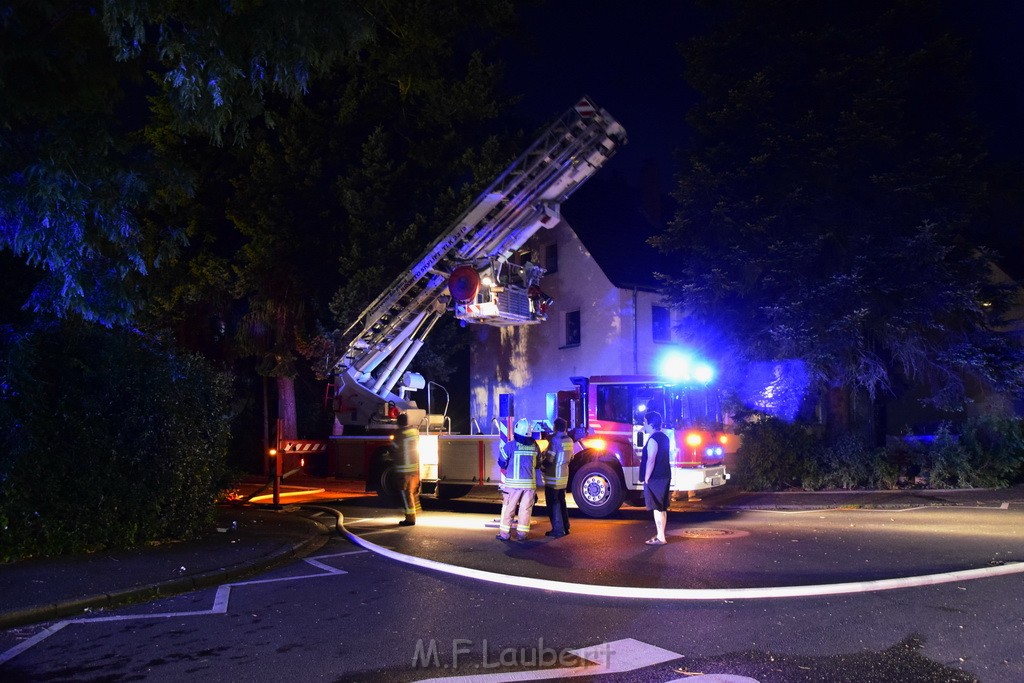
<path fill-rule="evenodd" d="M 678 259 L 665 282 L 684 334 L 725 358 L 801 358 L 819 388 L 870 398 L 923 382 L 959 408 L 968 382 L 1024 386 L 975 239 L 967 55 L 934 3 L 712 9 L 683 50 L 702 102 L 654 240 Z"/>

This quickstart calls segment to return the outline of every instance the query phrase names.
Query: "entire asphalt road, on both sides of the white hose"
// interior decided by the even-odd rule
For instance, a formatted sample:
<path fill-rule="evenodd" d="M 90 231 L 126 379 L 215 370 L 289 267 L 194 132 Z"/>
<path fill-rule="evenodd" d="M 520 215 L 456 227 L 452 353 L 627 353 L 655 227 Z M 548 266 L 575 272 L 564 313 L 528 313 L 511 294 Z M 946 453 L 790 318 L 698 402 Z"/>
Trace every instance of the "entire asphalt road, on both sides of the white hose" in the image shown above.
<path fill-rule="evenodd" d="M 436 524 L 413 529 L 394 526 L 393 511 L 342 507 L 353 529 L 395 552 L 415 547 L 454 564 L 538 577 L 592 567 L 585 578 L 598 586 L 871 581 L 1024 553 L 1017 510 L 673 513 L 672 543 L 655 549 L 673 554 L 658 556 L 640 543 L 651 523 L 640 511 L 574 518 L 565 539 L 509 546 L 493 538 L 493 506 L 433 509 L 423 522 Z M 701 529 L 729 533 L 701 538 Z M 1021 583 L 1013 574 L 815 597 L 635 600 L 600 588 L 562 594 L 453 575 L 336 539 L 314 557 L 237 585 L 90 614 L 53 632 L 6 631 L 0 649 L 36 639 L 4 667 L 9 681 L 1017 683 Z"/>

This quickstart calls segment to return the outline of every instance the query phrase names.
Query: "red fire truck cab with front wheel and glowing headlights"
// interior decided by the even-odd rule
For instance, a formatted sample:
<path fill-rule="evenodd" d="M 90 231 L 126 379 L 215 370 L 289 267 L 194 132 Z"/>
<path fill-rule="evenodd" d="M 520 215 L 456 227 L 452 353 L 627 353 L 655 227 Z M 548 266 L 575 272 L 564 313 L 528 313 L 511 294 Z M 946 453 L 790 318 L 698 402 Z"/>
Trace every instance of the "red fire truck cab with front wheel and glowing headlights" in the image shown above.
<path fill-rule="evenodd" d="M 696 492 L 729 478 L 723 464 L 730 437 L 718 392 L 700 382 L 655 376 L 573 377 L 557 394 L 558 417 L 574 425 L 569 463 L 572 498 L 584 514 L 605 517 L 629 500 L 642 504 L 644 415 L 656 411 L 671 444 L 672 490 Z"/>

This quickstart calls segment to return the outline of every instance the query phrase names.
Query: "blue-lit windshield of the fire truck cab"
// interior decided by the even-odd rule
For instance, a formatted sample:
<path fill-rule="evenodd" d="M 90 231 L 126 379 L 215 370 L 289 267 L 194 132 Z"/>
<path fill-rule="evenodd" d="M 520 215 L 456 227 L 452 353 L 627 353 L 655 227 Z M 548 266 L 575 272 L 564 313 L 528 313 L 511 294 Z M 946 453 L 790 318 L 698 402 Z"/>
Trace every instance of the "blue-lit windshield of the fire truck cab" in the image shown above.
<path fill-rule="evenodd" d="M 718 392 L 707 386 L 603 384 L 597 388 L 597 419 L 642 424 L 648 411 L 662 414 L 666 427 L 715 429 L 722 423 Z"/>

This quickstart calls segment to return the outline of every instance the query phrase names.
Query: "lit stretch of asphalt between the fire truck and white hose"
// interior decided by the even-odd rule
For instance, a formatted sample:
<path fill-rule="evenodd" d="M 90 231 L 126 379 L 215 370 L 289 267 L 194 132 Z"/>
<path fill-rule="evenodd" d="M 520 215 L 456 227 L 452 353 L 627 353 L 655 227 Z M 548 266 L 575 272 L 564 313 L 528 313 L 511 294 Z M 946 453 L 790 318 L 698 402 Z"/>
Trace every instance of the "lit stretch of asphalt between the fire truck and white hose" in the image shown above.
<path fill-rule="evenodd" d="M 354 502 L 353 503 L 357 503 Z M 458 503 L 458 502 L 456 502 Z M 649 513 L 572 518 L 572 533 L 501 544 L 497 509 L 452 506 L 421 519 L 417 533 L 390 533 L 393 511 L 343 505 L 346 528 L 401 553 L 484 571 L 551 581 L 680 589 L 727 589 L 867 582 L 1024 560 L 1024 510 L 919 508 L 672 513 L 669 545 L 651 548 Z"/>

